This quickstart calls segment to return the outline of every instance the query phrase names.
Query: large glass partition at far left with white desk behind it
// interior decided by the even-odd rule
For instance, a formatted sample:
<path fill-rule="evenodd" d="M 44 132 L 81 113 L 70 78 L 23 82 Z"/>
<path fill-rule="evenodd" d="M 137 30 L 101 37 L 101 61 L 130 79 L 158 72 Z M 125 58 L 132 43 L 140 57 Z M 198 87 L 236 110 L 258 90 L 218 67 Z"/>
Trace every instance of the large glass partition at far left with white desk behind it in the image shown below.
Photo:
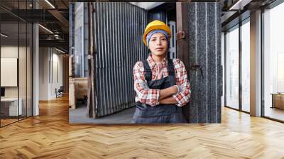
<path fill-rule="evenodd" d="M 31 9 L 32 1 L 1 1 L 0 5 Z M 32 25 L 0 9 L 0 126 L 32 115 Z"/>

